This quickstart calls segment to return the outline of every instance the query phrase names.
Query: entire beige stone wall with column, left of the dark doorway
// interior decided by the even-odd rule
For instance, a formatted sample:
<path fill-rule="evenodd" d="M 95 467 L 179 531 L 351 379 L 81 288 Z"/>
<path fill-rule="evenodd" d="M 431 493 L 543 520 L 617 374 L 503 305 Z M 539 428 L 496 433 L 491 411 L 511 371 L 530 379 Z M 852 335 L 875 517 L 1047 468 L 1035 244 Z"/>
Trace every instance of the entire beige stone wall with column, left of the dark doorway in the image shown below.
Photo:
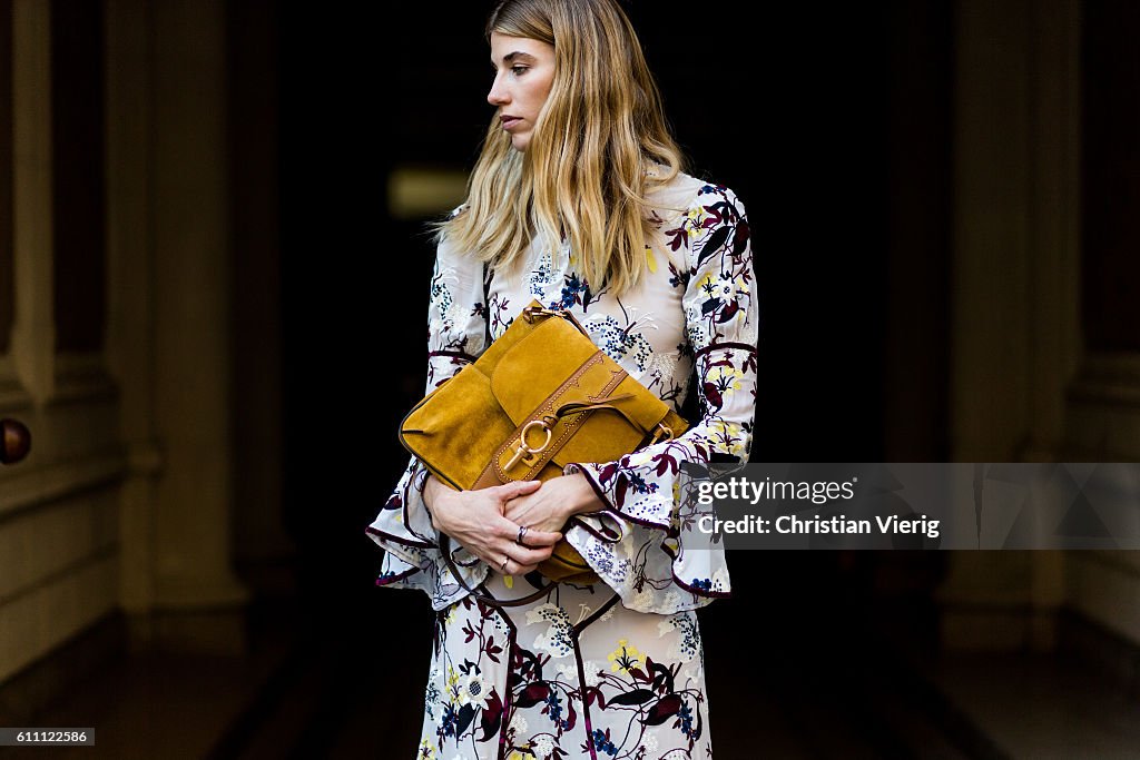
<path fill-rule="evenodd" d="M 0 469 L 0 684 L 68 641 L 242 651 L 231 613 L 295 583 L 272 13 L 0 3 L 0 415 L 33 434 Z"/>

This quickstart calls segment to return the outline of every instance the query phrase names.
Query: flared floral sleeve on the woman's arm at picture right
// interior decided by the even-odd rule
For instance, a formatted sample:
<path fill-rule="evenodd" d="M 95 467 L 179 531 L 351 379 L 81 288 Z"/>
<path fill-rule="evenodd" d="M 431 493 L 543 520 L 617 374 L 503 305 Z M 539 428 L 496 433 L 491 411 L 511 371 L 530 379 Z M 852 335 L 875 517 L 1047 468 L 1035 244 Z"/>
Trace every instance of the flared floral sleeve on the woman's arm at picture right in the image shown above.
<path fill-rule="evenodd" d="M 748 216 L 728 188 L 706 185 L 670 238 L 686 248 L 682 297 L 700 418 L 673 441 L 608 463 L 577 463 L 606 505 L 575 518 L 567 540 L 626 607 L 671 614 L 728 596 L 724 550 L 698 533 L 676 496 L 685 461 L 746 463 L 756 410 L 757 303 Z"/>

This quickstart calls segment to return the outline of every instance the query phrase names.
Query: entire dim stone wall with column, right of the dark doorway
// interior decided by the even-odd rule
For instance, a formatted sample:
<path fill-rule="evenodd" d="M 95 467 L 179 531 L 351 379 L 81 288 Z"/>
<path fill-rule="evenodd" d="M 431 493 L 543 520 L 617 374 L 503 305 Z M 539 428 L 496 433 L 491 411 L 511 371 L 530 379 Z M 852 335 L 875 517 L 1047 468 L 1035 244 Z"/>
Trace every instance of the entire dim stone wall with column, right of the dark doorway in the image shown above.
<path fill-rule="evenodd" d="M 1140 14 L 961 0 L 953 19 L 951 457 L 1137 461 Z M 944 641 L 1134 649 L 1133 554 L 955 553 Z"/>

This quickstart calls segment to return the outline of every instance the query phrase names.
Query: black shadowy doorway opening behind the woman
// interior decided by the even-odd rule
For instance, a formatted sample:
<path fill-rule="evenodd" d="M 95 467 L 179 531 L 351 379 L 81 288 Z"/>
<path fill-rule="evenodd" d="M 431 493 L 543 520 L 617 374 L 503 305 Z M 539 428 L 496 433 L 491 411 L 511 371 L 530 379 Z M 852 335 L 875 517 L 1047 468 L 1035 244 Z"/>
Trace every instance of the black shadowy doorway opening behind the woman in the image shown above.
<path fill-rule="evenodd" d="M 733 188 L 749 213 L 762 310 L 754 460 L 887 456 L 893 251 L 907 236 L 922 242 L 909 254 L 921 258 L 910 264 L 919 294 L 942 291 L 947 255 L 948 8 L 915 5 L 779 3 L 752 15 L 744 3 L 625 6 L 692 173 Z M 406 466 L 394 431 L 424 385 L 433 250 L 422 223 L 386 215 L 385 182 L 396 164 L 473 165 L 492 116 L 489 8 L 286 6 L 278 19 L 286 521 L 320 614 L 375 653 L 328 714 L 368 711 L 408 747 L 431 612 L 418 593 L 373 587 L 381 553 L 363 531 Z M 903 226 L 893 227 L 893 203 L 907 212 Z M 930 383 L 912 419 L 921 446 L 909 453 L 939 460 L 946 305 L 919 300 L 912 318 L 929 341 L 915 371 Z M 734 598 L 702 613 L 707 649 L 787 656 L 733 675 L 714 654 L 724 745 L 743 751 L 730 727 L 748 725 L 748 706 L 728 696 L 762 672 L 792 712 L 797 694 L 821 711 L 858 703 L 861 687 L 845 684 L 863 679 L 837 678 L 847 665 L 809 653 L 837 627 L 860 634 L 885 572 L 911 598 L 933 587 L 938 566 L 904 553 L 731 557 Z M 914 629 L 933 643 L 927 612 L 911 605 L 903 636 Z M 396 665 L 393 653 L 407 656 Z M 816 679 L 829 696 L 813 694 Z M 405 680 L 415 688 L 399 702 L 380 696 Z"/>

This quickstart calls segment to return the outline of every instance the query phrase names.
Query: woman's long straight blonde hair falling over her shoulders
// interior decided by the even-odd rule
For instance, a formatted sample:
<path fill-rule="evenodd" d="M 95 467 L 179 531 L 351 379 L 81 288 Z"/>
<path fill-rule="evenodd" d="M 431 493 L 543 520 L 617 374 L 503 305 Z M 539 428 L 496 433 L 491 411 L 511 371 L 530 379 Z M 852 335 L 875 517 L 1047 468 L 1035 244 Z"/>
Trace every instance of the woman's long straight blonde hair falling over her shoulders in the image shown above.
<path fill-rule="evenodd" d="M 437 240 L 510 268 L 536 235 L 565 237 L 595 291 L 620 296 L 648 268 L 648 194 L 684 170 L 637 34 L 614 0 L 504 0 L 492 32 L 553 44 L 554 81 L 526 152 L 496 114 L 463 211 L 433 226 Z"/>

